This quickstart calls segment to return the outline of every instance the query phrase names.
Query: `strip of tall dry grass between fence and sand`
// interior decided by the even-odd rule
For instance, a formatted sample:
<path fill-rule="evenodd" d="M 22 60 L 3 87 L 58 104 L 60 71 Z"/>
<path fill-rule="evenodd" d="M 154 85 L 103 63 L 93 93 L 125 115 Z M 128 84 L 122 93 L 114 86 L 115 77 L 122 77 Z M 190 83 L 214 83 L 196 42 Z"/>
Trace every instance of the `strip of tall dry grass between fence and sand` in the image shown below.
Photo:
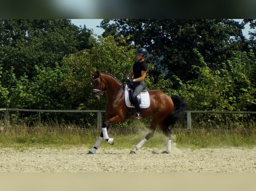
<path fill-rule="evenodd" d="M 234 123 L 236 124 L 236 123 Z M 71 148 L 94 146 L 99 137 L 100 130 L 84 129 L 76 125 L 63 124 L 36 124 L 33 127 L 27 127 L 25 124 L 10 125 L 8 129 L 0 133 L 0 147 L 11 147 L 15 150 L 24 151 L 29 147 L 34 148 Z M 102 141 L 101 147 L 111 148 L 133 148 L 147 133 L 148 128 L 143 121 L 133 121 L 135 129 L 133 132 L 118 132 L 113 126 L 109 130 L 109 136 L 113 137 L 115 144 L 110 146 L 106 141 Z M 203 129 L 202 129 L 203 126 Z M 135 128 L 136 127 L 136 128 Z M 176 124 L 177 132 L 173 133 L 172 141 L 178 148 L 220 148 L 220 147 L 246 147 L 254 148 L 256 145 L 256 128 L 254 123 L 248 123 L 240 128 L 237 126 L 220 126 L 222 131 L 216 131 L 214 124 L 209 127 L 202 125 L 193 126 L 190 132 L 182 131 L 182 125 Z M 197 132 L 197 129 L 201 129 Z M 144 147 L 164 148 L 166 138 L 158 130 L 154 136 L 144 144 Z"/>

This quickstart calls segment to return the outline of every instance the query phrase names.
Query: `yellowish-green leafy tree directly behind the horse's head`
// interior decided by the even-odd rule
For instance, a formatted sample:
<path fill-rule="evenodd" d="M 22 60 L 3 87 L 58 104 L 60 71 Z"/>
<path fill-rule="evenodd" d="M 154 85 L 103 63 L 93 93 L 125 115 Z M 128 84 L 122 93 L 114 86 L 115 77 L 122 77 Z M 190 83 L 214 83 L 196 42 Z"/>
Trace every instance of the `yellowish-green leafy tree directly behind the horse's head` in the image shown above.
<path fill-rule="evenodd" d="M 113 37 L 100 38 L 90 50 L 83 50 L 63 59 L 62 65 L 68 69 L 61 85 L 79 109 L 105 109 L 106 99 L 92 100 L 92 75 L 90 71 L 108 72 L 122 80 L 129 74 L 135 61 L 135 49 L 123 46 L 126 39 L 118 42 Z"/>

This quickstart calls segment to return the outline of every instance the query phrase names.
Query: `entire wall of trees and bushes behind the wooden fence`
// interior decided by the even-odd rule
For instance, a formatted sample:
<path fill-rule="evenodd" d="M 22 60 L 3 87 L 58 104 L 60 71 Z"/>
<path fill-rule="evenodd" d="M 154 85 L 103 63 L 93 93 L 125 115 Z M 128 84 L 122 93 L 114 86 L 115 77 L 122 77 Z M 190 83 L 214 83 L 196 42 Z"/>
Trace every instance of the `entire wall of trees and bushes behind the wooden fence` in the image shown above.
<path fill-rule="evenodd" d="M 96 41 L 90 30 L 67 19 L 0 19 L 0 107 L 104 110 L 105 96 L 92 99 L 90 71 L 122 80 L 136 61 L 136 49 L 146 47 L 148 90 L 180 95 L 187 110 L 256 110 L 255 35 L 247 41 L 244 24 L 228 19 L 109 21 L 102 22 L 106 31 Z M 255 28 L 255 20 L 246 22 Z M 60 116 L 39 114 L 22 117 Z M 18 112 L 11 116 L 20 117 Z M 92 127 L 95 118 L 93 113 L 66 114 L 58 120 Z M 215 119 L 228 121 L 228 116 L 207 115 L 209 123 Z"/>

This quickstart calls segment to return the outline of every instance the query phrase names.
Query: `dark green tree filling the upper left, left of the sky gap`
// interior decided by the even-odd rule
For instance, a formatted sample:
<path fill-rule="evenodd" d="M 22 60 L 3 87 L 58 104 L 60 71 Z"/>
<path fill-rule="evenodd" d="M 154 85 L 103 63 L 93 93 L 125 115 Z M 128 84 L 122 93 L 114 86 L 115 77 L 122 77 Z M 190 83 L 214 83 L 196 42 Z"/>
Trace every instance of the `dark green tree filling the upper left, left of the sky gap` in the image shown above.
<path fill-rule="evenodd" d="M 34 65 L 55 67 L 63 57 L 90 48 L 91 31 L 68 19 L 0 19 L 0 63 L 16 76 L 36 75 Z"/>

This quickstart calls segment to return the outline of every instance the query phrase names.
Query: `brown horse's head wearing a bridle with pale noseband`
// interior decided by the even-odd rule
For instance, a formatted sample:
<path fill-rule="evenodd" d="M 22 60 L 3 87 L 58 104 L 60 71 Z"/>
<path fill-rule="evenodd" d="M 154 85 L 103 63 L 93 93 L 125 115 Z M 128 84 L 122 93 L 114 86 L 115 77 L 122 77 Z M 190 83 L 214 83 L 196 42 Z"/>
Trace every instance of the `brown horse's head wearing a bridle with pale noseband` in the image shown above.
<path fill-rule="evenodd" d="M 100 95 L 102 95 L 104 92 L 103 90 L 105 89 L 106 85 L 102 80 L 101 74 L 99 71 L 94 74 L 91 72 L 93 79 L 92 79 L 92 85 L 93 85 L 93 98 L 94 99 L 100 99 Z"/>

